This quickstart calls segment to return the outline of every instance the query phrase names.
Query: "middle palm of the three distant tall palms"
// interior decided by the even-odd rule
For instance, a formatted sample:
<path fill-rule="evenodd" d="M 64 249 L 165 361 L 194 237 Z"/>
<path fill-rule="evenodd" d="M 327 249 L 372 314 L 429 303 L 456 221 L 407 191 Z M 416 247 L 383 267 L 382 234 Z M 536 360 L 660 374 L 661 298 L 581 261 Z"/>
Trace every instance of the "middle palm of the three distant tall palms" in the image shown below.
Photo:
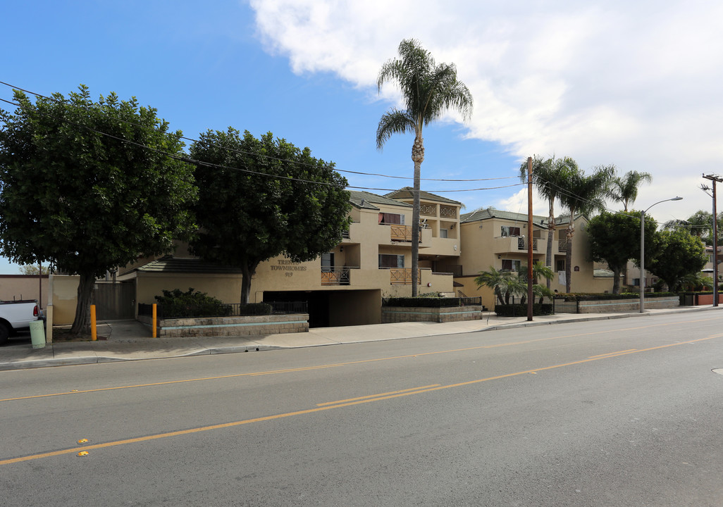
<path fill-rule="evenodd" d="M 615 174 L 615 166 L 600 165 L 594 173 L 586 175 L 582 170 L 570 172 L 560 194 L 562 206 L 570 212 L 570 224 L 566 236 L 568 246 L 565 250 L 565 292 L 570 293 L 570 281 L 573 261 L 573 236 L 575 235 L 575 215 L 587 215 L 596 209 L 604 209 L 603 197 L 607 186 Z"/>

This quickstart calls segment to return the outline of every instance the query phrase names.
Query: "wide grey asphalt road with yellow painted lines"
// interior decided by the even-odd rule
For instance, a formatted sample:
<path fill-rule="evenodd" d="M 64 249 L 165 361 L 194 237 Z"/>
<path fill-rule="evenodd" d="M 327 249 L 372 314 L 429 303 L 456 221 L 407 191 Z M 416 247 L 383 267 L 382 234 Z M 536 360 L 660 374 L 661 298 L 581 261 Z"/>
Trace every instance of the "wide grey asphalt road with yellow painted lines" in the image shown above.
<path fill-rule="evenodd" d="M 0 505 L 721 507 L 722 321 L 2 371 Z"/>

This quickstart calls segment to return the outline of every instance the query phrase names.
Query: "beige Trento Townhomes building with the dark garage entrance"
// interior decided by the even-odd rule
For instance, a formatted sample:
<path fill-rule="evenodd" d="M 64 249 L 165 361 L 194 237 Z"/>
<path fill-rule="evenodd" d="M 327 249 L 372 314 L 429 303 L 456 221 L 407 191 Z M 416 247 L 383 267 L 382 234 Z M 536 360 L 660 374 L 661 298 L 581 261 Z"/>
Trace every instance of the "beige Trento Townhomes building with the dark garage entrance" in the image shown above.
<path fill-rule="evenodd" d="M 293 263 L 280 256 L 262 262 L 252 278 L 252 303 L 305 301 L 310 325 L 346 326 L 379 324 L 382 298 L 411 295 L 411 204 L 359 191 L 350 192 L 350 201 L 352 222 L 341 243 L 315 261 Z M 453 275 L 438 266 L 457 264 L 461 204 L 425 194 L 422 207 L 419 293 L 453 295 Z M 77 281 L 54 278 L 55 322 L 68 323 Z M 126 287 L 123 295 L 114 295 L 114 304 L 121 300 L 121 306 L 133 309 L 155 303 L 163 290 L 189 287 L 237 303 L 241 273 L 196 259 L 179 245 L 172 256 L 139 259 L 119 269 L 113 282 L 99 281 L 98 290 L 106 285 Z"/>

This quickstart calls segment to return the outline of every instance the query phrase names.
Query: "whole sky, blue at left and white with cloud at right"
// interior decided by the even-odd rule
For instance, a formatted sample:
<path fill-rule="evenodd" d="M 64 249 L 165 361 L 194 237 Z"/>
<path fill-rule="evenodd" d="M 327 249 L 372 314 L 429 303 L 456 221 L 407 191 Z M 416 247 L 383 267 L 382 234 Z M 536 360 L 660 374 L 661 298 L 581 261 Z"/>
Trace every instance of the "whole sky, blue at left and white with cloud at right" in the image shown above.
<path fill-rule="evenodd" d="M 651 215 L 685 218 L 710 209 L 698 186 L 721 155 L 723 7 L 628 3 L 4 2 L 0 80 L 43 95 L 82 83 L 95 97 L 137 97 L 189 137 L 272 131 L 338 170 L 410 177 L 411 135 L 375 147 L 379 118 L 397 100 L 393 87 L 377 94 L 375 81 L 398 43 L 417 38 L 458 66 L 475 99 L 471 121 L 449 116 L 425 129 L 422 177 L 508 178 L 427 181 L 424 190 L 513 185 L 528 155 L 569 155 L 586 169 L 652 173 L 637 207 L 680 195 Z M 12 90 L 0 85 L 0 98 Z M 343 174 L 351 186 L 411 185 Z M 442 195 L 467 211 L 525 212 L 520 190 Z M 538 199 L 535 212 L 544 213 Z M 16 272 L 0 259 L 0 273 Z"/>

